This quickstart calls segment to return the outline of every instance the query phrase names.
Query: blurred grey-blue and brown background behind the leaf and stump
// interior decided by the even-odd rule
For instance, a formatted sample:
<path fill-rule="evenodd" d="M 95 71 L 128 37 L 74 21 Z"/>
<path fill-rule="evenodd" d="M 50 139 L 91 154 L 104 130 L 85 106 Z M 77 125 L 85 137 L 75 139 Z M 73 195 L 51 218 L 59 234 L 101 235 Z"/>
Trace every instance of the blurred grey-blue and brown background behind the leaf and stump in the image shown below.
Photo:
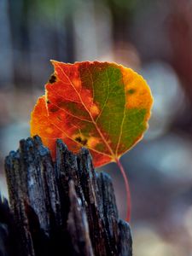
<path fill-rule="evenodd" d="M 150 128 L 121 161 L 131 185 L 135 256 L 192 255 L 192 1 L 0 0 L 0 189 L 3 159 L 57 61 L 116 61 L 154 95 Z M 121 218 L 125 187 L 113 177 Z"/>

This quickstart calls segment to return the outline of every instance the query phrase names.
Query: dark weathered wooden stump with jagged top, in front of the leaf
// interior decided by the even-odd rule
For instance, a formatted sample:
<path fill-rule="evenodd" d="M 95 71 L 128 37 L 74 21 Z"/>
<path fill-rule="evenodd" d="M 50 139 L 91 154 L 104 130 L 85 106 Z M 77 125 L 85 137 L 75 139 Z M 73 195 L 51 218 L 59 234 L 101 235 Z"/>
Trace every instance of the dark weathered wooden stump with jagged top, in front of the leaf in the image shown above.
<path fill-rule="evenodd" d="M 15 255 L 131 256 L 111 178 L 95 172 L 88 149 L 73 154 L 58 140 L 54 162 L 39 137 L 27 138 L 6 158 L 5 172 Z"/>

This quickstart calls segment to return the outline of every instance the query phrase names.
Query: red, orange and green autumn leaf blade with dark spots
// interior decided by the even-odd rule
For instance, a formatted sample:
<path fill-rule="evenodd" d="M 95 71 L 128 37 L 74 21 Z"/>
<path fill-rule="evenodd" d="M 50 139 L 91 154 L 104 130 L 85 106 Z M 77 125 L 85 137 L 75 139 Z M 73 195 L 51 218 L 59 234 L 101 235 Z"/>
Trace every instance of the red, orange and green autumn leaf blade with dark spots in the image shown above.
<path fill-rule="evenodd" d="M 148 127 L 153 102 L 148 84 L 115 63 L 51 62 L 55 73 L 32 112 L 32 136 L 38 134 L 53 157 L 61 138 L 75 153 L 89 148 L 95 166 L 117 161 Z"/>

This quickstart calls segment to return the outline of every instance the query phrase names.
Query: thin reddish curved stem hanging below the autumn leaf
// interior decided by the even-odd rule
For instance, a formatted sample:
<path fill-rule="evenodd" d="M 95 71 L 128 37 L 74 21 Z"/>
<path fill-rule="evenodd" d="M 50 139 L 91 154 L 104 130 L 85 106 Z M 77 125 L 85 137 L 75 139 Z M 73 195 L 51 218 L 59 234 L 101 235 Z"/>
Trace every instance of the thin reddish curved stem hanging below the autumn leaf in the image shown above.
<path fill-rule="evenodd" d="M 125 173 L 124 167 L 121 165 L 119 159 L 115 159 L 117 165 L 119 166 L 119 170 L 124 178 L 125 181 L 125 189 L 126 189 L 126 202 L 127 202 L 127 210 L 126 210 L 126 218 L 127 222 L 130 222 L 131 219 L 131 192 L 130 192 L 130 185 L 128 182 L 128 178 Z"/>

